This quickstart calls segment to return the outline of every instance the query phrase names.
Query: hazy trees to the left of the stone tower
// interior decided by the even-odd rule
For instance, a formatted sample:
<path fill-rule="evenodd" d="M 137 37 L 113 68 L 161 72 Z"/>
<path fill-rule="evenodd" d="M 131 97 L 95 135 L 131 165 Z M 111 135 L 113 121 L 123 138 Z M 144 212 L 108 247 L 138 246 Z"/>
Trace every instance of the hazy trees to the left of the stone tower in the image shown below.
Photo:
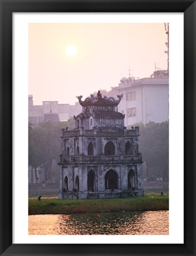
<path fill-rule="evenodd" d="M 45 169 L 45 180 L 51 180 L 53 159 L 58 162 L 61 153 L 61 129 L 73 129 L 74 124 L 74 119 L 58 123 L 45 121 L 34 129 L 29 124 L 28 159 L 29 165 L 35 169 L 36 180 L 37 168 L 41 165 Z"/>

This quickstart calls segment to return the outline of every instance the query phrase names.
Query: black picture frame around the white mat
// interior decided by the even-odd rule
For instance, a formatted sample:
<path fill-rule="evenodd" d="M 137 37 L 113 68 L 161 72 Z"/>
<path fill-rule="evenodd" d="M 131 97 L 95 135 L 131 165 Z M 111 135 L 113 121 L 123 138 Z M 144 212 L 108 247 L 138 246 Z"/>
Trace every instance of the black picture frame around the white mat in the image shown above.
<path fill-rule="evenodd" d="M 193 0 L 0 0 L 1 255 L 196 255 L 195 18 Z M 12 13 L 184 12 L 184 244 L 12 244 Z M 177 124 L 178 126 L 178 124 Z M 182 138 L 179 138 L 182 139 Z M 174 156 L 178 159 L 178 156 Z M 176 170 L 177 171 L 177 170 Z M 183 196 L 177 191 L 177 196 Z"/>

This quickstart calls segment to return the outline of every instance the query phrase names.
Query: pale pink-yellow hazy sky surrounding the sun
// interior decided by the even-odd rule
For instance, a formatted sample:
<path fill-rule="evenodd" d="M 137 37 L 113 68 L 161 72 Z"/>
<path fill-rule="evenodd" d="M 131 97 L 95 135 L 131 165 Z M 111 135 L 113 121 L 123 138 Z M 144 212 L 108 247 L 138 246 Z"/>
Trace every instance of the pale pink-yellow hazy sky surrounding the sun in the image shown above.
<path fill-rule="evenodd" d="M 117 87 L 120 78 L 145 78 L 167 68 L 164 23 L 30 23 L 29 94 L 42 101 L 77 102 L 98 89 Z M 77 54 L 66 55 L 74 45 Z"/>

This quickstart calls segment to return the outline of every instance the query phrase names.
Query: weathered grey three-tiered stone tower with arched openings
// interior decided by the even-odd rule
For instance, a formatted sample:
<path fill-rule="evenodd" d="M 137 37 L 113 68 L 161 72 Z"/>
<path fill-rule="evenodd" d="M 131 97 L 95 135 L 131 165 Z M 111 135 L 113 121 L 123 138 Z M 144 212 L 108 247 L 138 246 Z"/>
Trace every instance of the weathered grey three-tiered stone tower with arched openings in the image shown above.
<path fill-rule="evenodd" d="M 78 97 L 76 128 L 62 130 L 60 199 L 143 196 L 139 127 L 126 129 L 117 97 Z"/>

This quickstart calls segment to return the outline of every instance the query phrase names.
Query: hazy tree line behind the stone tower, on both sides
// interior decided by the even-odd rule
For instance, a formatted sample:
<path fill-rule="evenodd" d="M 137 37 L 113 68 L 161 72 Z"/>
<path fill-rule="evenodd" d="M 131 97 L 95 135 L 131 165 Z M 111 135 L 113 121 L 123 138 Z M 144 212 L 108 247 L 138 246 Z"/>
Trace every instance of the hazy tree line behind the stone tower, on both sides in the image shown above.
<path fill-rule="evenodd" d="M 139 126 L 139 151 L 142 153 L 144 176 L 162 177 L 168 179 L 169 170 L 169 122 L 137 123 Z M 35 170 L 44 167 L 45 180 L 51 178 L 51 164 L 53 159 L 59 161 L 61 154 L 61 129 L 74 129 L 75 121 L 53 123 L 46 121 L 39 127 L 28 126 L 28 164 Z M 129 127 L 128 127 L 129 128 Z"/>

